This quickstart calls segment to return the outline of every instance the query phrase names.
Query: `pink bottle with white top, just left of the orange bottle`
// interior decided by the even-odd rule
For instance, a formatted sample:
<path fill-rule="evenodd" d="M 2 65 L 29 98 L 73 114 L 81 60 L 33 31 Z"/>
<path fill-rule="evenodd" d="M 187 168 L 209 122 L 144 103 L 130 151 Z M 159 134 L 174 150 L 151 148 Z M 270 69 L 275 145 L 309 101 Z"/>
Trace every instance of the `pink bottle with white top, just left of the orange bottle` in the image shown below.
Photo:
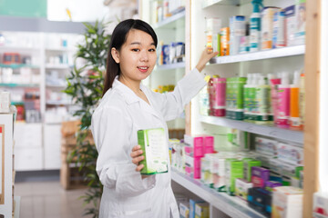
<path fill-rule="evenodd" d="M 278 84 L 279 92 L 279 108 L 278 108 L 278 127 L 289 128 L 289 116 L 290 116 L 290 96 L 291 88 L 289 84 L 288 73 L 282 73 L 282 84 Z"/>

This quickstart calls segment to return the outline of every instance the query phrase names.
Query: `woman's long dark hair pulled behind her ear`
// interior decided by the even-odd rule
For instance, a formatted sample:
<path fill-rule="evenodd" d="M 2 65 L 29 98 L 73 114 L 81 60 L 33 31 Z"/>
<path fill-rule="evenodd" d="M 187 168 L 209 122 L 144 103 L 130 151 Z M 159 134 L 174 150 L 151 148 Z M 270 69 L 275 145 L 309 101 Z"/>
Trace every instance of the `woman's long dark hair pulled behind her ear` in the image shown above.
<path fill-rule="evenodd" d="M 157 47 L 158 45 L 158 38 L 157 35 L 155 34 L 155 31 L 146 22 L 142 20 L 134 20 L 134 19 L 128 19 L 120 22 L 115 27 L 110 39 L 108 59 L 107 59 L 107 72 L 104 82 L 103 96 L 108 91 L 108 89 L 112 87 L 115 77 L 120 74 L 119 64 L 115 62 L 111 54 L 111 49 L 114 47 L 116 48 L 116 50 L 119 51 L 121 46 L 127 41 L 128 32 L 131 29 L 141 30 L 149 34 L 154 40 L 155 46 Z"/>

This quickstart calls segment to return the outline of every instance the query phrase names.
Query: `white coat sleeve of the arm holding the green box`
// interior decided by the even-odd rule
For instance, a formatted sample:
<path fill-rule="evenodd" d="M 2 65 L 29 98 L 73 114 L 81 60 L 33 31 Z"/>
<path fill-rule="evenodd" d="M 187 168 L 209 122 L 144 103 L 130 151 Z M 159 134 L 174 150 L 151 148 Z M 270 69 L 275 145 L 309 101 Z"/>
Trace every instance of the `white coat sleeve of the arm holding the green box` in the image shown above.
<path fill-rule="evenodd" d="M 132 163 L 128 115 L 115 107 L 102 108 L 92 116 L 91 130 L 97 145 L 100 182 L 121 196 L 137 196 L 155 186 L 155 176 L 142 179 Z M 137 133 L 136 133 L 137 134 Z"/>

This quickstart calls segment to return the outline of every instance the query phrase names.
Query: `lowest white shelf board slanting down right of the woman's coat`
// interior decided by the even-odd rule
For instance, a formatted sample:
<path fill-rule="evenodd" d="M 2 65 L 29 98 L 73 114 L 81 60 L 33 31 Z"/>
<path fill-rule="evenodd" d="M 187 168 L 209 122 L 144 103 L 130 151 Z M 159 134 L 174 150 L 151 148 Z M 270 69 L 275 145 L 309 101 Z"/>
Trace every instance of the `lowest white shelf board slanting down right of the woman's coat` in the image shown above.
<path fill-rule="evenodd" d="M 263 218 L 261 213 L 251 209 L 247 203 L 241 199 L 228 195 L 227 193 L 218 193 L 210 187 L 200 183 L 199 180 L 192 179 L 190 176 L 171 170 L 172 180 L 181 186 L 200 196 L 204 201 L 218 208 L 221 212 L 233 218 Z"/>

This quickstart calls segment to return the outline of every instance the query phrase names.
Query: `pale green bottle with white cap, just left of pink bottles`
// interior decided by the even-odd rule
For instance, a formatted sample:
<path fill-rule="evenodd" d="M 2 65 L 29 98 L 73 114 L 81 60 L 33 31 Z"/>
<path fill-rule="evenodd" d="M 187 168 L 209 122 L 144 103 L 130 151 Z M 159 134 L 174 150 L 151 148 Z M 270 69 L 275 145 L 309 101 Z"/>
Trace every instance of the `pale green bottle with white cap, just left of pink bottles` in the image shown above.
<path fill-rule="evenodd" d="M 270 122 L 270 85 L 263 75 L 259 76 L 256 86 L 256 102 L 258 105 L 257 124 L 269 124 Z"/>

